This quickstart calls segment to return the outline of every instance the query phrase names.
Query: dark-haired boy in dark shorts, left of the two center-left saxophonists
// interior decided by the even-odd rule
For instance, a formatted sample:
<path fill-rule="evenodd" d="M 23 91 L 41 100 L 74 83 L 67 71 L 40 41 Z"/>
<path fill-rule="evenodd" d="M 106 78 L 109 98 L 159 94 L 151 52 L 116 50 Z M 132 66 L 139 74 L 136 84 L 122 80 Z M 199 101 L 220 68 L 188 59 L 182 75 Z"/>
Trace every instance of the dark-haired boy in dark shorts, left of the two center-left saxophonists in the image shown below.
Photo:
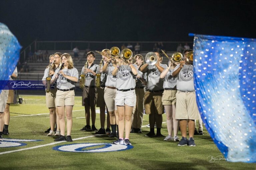
<path fill-rule="evenodd" d="M 82 106 L 85 109 L 85 119 L 86 126 L 84 126 L 80 131 L 98 131 L 95 127 L 96 120 L 96 112 L 95 112 L 95 104 L 96 104 L 96 96 L 95 96 L 95 75 L 98 69 L 97 64 L 94 64 L 95 53 L 90 51 L 87 54 L 88 66 L 87 68 L 82 68 L 82 73 L 85 74 L 85 87 L 83 88 L 82 93 Z M 90 116 L 91 109 L 91 116 Z M 92 128 L 90 126 L 90 117 L 92 117 Z"/>

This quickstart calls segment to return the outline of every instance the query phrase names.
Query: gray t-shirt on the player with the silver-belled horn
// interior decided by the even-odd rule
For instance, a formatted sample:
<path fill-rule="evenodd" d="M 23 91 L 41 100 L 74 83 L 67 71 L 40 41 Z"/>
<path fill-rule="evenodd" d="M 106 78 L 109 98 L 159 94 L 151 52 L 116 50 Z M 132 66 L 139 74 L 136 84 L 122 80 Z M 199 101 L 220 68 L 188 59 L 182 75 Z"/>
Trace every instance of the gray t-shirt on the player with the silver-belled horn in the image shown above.
<path fill-rule="evenodd" d="M 164 69 L 168 67 L 166 64 L 159 65 Z M 164 81 L 160 79 L 160 74 L 155 65 L 148 65 L 146 90 L 163 90 Z"/>

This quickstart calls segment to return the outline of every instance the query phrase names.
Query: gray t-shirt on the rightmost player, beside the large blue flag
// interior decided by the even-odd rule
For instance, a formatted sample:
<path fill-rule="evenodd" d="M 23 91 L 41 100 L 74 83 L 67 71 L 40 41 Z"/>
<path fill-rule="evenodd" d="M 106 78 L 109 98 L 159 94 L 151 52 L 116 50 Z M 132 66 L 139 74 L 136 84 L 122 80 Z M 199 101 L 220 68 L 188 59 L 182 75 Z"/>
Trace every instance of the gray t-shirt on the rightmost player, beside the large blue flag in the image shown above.
<path fill-rule="evenodd" d="M 180 64 L 174 69 L 177 70 Z M 193 65 L 184 64 L 177 77 L 177 90 L 184 92 L 195 91 Z"/>

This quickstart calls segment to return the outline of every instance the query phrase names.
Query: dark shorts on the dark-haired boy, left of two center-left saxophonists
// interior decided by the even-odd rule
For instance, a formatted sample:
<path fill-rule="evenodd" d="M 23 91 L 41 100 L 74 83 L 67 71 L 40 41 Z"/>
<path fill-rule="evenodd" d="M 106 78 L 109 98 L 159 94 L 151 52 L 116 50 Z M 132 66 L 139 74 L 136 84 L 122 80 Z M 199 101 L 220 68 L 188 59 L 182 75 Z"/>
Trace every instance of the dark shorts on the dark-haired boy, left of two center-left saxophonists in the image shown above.
<path fill-rule="evenodd" d="M 84 87 L 82 92 L 82 106 L 95 107 L 96 90 L 95 88 Z"/>

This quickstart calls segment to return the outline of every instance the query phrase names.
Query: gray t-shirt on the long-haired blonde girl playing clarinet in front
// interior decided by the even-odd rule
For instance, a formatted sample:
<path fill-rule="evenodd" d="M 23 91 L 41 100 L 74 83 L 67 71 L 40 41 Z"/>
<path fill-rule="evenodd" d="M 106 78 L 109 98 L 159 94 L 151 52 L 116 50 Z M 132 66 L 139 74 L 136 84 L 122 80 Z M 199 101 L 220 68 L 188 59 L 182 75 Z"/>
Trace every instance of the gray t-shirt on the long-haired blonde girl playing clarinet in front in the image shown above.
<path fill-rule="evenodd" d="M 64 74 L 71 76 L 71 77 L 76 77 L 78 78 L 78 71 L 76 68 L 72 68 L 72 69 L 67 69 L 64 68 L 62 69 Z M 55 70 L 54 75 L 52 76 L 52 80 L 54 79 L 55 75 L 59 72 L 59 68 Z M 75 82 L 66 79 L 65 77 L 62 76 L 62 74 L 59 75 L 58 79 L 57 79 L 57 88 L 58 89 L 70 89 L 75 87 Z"/>

